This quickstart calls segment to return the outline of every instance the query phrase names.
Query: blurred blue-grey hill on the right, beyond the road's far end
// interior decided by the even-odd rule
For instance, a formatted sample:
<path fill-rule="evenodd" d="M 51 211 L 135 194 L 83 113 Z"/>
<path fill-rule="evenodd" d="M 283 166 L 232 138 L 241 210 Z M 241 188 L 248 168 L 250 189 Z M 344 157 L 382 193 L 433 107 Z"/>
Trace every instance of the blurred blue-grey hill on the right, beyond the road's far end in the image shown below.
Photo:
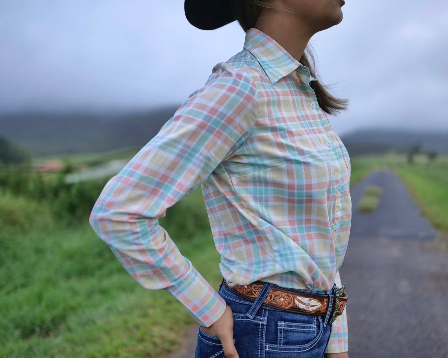
<path fill-rule="evenodd" d="M 362 128 L 341 136 L 351 157 L 370 153 L 386 153 L 396 150 L 407 153 L 414 145 L 420 145 L 423 153 L 435 150 L 448 154 L 448 130 L 445 132 L 411 132 L 394 129 Z"/>

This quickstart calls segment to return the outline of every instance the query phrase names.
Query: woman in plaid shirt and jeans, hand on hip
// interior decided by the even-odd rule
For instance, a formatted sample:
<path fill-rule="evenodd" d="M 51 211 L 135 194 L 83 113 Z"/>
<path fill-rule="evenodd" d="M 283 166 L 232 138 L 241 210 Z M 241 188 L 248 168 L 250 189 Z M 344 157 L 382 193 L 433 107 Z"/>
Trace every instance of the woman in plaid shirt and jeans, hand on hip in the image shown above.
<path fill-rule="evenodd" d="M 197 358 L 348 357 L 337 286 L 351 169 L 326 115 L 346 102 L 304 55 L 313 34 L 342 20 L 343 4 L 186 0 L 198 28 L 237 19 L 244 49 L 215 65 L 92 210 L 90 224 L 126 270 L 201 324 Z M 158 224 L 199 185 L 221 254 L 218 293 Z"/>

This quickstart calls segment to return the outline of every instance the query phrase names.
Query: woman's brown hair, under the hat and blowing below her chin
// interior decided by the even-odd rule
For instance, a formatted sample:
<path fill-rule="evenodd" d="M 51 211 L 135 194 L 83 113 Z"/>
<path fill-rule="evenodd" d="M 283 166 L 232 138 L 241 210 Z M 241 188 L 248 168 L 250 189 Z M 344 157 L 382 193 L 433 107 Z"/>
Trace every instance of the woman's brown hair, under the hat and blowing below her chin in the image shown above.
<path fill-rule="evenodd" d="M 255 23 L 263 8 L 275 8 L 267 3 L 266 0 L 231 0 L 231 3 L 233 16 L 238 20 L 245 32 L 255 27 Z M 286 10 L 289 11 L 288 9 Z M 299 62 L 310 69 L 311 76 L 318 79 L 315 70 L 315 59 L 309 44 L 306 46 L 305 52 Z M 317 81 L 311 81 L 310 87 L 316 94 L 320 108 L 327 114 L 335 115 L 339 111 L 347 109 L 348 100 L 336 98 L 328 93 L 326 86 L 321 84 L 319 79 Z"/>

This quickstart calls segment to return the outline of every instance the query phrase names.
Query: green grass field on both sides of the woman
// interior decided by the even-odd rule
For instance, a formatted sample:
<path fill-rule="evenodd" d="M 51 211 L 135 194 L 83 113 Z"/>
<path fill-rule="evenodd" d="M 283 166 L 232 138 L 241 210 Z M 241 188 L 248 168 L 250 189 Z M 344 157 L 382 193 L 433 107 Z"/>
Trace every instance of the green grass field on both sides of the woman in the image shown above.
<path fill-rule="evenodd" d="M 353 158 L 350 186 L 374 168 L 393 168 L 431 222 L 447 230 L 448 159 L 420 159 L 409 166 L 399 156 Z M 67 228 L 45 202 L 1 198 L 0 357 L 163 358 L 179 343 L 193 318 L 167 292 L 134 281 L 88 218 Z M 200 189 L 160 224 L 217 289 L 219 254 Z"/>

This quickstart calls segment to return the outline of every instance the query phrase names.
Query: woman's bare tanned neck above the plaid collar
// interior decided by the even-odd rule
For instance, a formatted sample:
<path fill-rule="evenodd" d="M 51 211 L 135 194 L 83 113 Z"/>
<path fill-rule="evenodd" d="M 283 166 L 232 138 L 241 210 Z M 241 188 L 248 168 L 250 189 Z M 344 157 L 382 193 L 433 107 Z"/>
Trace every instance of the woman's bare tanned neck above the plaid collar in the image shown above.
<path fill-rule="evenodd" d="M 300 61 L 314 32 L 297 20 L 293 13 L 265 8 L 255 28 L 276 40 L 294 59 Z"/>

